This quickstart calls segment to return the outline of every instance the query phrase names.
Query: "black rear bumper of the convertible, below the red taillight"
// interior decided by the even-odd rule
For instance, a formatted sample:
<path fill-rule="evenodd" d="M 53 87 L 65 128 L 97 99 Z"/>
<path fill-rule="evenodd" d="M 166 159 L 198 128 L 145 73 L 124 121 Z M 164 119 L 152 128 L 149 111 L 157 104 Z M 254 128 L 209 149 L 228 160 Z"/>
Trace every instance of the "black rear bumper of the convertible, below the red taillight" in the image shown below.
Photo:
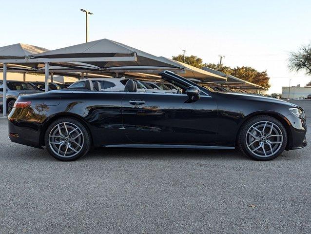
<path fill-rule="evenodd" d="M 8 118 L 8 127 L 8 137 L 12 142 L 43 149 L 39 144 L 40 126 L 38 123 Z"/>

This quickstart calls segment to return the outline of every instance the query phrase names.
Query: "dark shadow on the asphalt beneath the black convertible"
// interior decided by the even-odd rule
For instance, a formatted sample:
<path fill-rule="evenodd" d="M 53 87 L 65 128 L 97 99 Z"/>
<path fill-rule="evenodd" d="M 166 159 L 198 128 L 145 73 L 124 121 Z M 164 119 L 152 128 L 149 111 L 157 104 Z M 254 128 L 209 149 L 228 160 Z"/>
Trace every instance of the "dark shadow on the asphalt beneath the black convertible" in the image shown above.
<path fill-rule="evenodd" d="M 274 160 L 295 160 L 298 159 L 293 151 L 284 151 L 283 154 Z M 10 161 L 56 161 L 46 150 L 40 150 L 29 146 L 17 147 L 14 154 L 9 154 L 2 159 Z M 147 148 L 96 148 L 91 149 L 88 154 L 77 161 L 107 160 L 107 159 L 152 159 L 152 160 L 208 160 L 208 161 L 252 161 L 238 150 L 206 150 L 206 149 L 147 149 Z M 274 161 L 273 160 L 273 161 Z M 254 160 L 253 160 L 254 161 Z"/>

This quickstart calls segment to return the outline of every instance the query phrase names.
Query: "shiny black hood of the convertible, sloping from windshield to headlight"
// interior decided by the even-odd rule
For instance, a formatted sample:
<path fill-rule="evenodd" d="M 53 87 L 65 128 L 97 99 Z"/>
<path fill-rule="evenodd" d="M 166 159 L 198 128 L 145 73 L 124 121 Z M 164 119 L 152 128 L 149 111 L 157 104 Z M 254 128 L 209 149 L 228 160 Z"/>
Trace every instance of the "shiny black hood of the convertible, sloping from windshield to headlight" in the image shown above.
<path fill-rule="evenodd" d="M 284 100 L 280 100 L 277 98 L 262 97 L 262 96 L 257 96 L 253 94 L 225 93 L 225 92 L 218 92 L 217 94 L 223 97 L 234 98 L 234 99 L 264 101 L 264 102 L 276 103 L 276 104 L 281 104 L 281 105 L 287 105 L 290 107 L 297 107 L 297 105 L 284 101 Z"/>

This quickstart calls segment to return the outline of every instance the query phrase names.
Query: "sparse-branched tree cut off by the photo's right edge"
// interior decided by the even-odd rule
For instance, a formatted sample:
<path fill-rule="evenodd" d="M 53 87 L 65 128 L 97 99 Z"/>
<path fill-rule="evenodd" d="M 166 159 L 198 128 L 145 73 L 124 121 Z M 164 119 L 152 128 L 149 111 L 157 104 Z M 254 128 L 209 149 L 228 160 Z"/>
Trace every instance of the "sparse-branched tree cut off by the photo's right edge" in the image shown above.
<path fill-rule="evenodd" d="M 297 52 L 292 52 L 288 66 L 291 71 L 304 71 L 306 75 L 311 75 L 311 43 L 302 45 Z"/>

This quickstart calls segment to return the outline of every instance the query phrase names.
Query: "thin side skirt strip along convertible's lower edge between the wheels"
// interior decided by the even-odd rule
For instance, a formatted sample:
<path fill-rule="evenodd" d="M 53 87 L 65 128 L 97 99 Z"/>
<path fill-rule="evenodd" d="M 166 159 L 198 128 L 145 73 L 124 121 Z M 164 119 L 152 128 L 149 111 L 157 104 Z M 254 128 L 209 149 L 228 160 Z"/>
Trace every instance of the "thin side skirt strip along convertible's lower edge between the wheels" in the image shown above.
<path fill-rule="evenodd" d="M 122 144 L 122 145 L 105 145 L 103 147 L 117 148 L 168 148 L 168 149 L 221 149 L 233 150 L 235 147 L 230 146 L 209 146 L 209 145 L 160 145 L 160 144 Z"/>

